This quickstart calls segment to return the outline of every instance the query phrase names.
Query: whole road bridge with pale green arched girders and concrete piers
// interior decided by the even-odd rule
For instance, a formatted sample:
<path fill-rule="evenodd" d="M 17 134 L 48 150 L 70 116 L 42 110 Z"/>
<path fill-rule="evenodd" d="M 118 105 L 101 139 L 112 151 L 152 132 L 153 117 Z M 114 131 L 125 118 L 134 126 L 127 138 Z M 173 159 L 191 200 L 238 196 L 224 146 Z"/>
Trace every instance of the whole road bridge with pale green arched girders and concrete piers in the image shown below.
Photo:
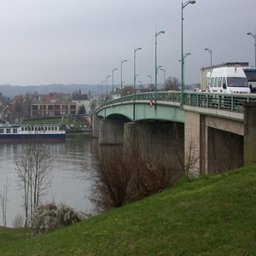
<path fill-rule="evenodd" d="M 153 147 L 163 150 L 178 137 L 175 150 L 195 175 L 256 163 L 256 95 L 183 92 L 181 100 L 181 92 L 166 91 L 104 102 L 91 116 L 93 136 L 100 144 L 125 143 L 146 125 Z"/>

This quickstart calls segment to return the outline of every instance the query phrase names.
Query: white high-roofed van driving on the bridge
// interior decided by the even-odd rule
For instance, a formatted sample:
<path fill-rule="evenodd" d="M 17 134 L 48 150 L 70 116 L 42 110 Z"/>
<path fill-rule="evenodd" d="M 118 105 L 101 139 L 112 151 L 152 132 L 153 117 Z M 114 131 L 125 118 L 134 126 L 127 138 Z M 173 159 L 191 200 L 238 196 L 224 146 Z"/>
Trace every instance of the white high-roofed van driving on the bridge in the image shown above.
<path fill-rule="evenodd" d="M 208 81 L 211 92 L 251 93 L 247 76 L 241 67 L 213 68 Z"/>

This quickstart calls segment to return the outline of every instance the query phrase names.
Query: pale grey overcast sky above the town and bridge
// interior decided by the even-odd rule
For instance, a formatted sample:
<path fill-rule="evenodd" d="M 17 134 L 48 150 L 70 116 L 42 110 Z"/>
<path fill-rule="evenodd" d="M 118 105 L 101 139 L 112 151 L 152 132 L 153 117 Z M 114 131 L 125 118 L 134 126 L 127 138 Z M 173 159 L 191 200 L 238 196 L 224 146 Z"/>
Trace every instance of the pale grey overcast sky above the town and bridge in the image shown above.
<path fill-rule="evenodd" d="M 185 3 L 185 1 L 183 1 Z M 102 84 L 113 74 L 133 84 L 154 82 L 157 62 L 181 80 L 181 0 L 0 0 L 0 84 Z M 201 67 L 227 61 L 254 66 L 255 0 L 197 0 L 183 9 L 185 84 Z M 164 82 L 159 70 L 158 83 Z M 112 77 L 108 78 L 112 84 Z M 137 84 L 140 84 L 137 82 Z"/>

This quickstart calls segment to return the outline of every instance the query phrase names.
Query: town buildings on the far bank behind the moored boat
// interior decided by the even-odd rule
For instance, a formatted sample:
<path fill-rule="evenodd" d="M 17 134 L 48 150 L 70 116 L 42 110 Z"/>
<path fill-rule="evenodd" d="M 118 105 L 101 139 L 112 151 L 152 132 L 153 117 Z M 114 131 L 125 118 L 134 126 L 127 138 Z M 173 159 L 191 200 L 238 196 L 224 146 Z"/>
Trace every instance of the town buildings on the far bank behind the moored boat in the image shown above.
<path fill-rule="evenodd" d="M 9 101 L 0 93 L 1 123 L 20 123 L 24 119 L 41 119 L 49 117 L 70 117 L 79 113 L 79 108 L 90 113 L 90 100 L 81 91 L 71 94 L 27 93 L 26 96 L 15 96 Z"/>

